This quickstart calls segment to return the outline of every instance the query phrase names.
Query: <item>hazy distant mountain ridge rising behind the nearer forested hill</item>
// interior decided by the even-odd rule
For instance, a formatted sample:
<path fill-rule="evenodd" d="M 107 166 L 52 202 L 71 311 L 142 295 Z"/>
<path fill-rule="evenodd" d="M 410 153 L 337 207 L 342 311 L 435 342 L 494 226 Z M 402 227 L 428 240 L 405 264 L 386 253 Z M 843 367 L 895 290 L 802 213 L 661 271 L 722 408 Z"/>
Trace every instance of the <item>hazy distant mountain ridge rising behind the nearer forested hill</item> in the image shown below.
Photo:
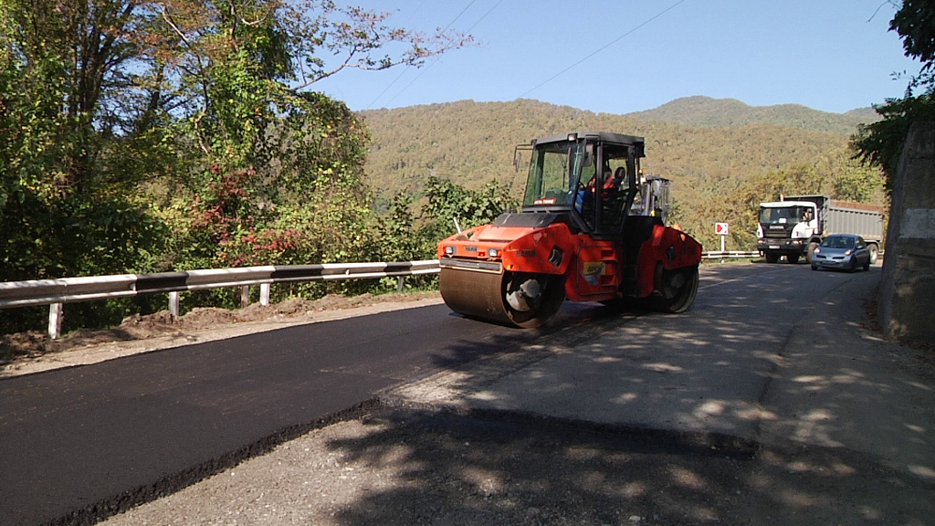
<path fill-rule="evenodd" d="M 798 104 L 748 106 L 734 98 L 687 96 L 677 98 L 653 110 L 629 113 L 644 121 L 666 121 L 690 126 L 724 127 L 747 124 L 778 124 L 804 130 L 853 134 L 858 124 L 879 119 L 870 108 L 847 113 L 829 113 Z"/>

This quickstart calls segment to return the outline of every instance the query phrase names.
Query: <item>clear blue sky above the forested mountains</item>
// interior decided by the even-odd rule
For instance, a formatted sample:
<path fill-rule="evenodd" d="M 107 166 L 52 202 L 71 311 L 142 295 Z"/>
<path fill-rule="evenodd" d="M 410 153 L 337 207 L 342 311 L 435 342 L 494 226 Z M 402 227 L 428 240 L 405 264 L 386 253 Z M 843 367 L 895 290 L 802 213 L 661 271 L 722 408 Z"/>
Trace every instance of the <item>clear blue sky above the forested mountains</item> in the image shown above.
<path fill-rule="evenodd" d="M 422 69 L 345 71 L 311 86 L 352 110 L 522 97 L 628 113 L 707 95 L 843 112 L 901 96 L 906 80 L 892 74 L 918 70 L 887 31 L 895 7 L 884 0 L 338 1 L 422 32 L 451 23 L 480 42 Z"/>

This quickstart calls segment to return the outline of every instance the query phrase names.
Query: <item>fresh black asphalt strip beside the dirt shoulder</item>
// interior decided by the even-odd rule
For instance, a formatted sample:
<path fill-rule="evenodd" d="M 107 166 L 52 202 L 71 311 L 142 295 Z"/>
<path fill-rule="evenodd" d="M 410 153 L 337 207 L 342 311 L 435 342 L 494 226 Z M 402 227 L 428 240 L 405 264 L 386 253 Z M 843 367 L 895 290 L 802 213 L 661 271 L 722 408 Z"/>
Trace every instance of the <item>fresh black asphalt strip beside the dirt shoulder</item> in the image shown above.
<path fill-rule="evenodd" d="M 437 305 L 2 380 L 0 523 L 45 523 L 226 467 L 239 449 L 491 352 L 495 336 L 528 334 Z"/>

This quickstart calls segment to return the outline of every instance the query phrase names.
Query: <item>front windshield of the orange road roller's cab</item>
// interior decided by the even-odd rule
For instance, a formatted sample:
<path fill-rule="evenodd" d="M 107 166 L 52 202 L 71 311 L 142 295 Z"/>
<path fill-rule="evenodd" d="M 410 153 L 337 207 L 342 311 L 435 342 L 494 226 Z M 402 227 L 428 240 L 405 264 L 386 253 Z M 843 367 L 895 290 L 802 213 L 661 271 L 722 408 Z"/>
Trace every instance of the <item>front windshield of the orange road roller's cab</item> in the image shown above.
<path fill-rule="evenodd" d="M 523 206 L 571 204 L 574 185 L 578 183 L 577 175 L 584 162 L 584 152 L 584 142 L 537 145 L 529 167 Z"/>

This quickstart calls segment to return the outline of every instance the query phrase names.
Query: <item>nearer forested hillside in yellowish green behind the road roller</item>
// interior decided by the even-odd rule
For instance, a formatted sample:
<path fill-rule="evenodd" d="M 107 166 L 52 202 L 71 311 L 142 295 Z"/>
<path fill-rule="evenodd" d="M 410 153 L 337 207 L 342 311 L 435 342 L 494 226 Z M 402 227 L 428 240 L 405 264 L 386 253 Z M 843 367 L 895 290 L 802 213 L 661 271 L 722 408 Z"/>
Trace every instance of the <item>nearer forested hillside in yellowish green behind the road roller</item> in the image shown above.
<path fill-rule="evenodd" d="M 742 225 L 731 228 L 735 248 L 748 247 L 755 202 L 777 198 L 780 192 L 884 202 L 879 173 L 851 160 L 845 133 L 776 124 L 691 126 L 528 99 L 465 100 L 359 115 L 371 133 L 367 181 L 381 210 L 400 192 L 414 196 L 418 205 L 429 177 L 470 189 L 497 181 L 520 197 L 526 174 L 525 168 L 512 166 L 514 146 L 582 130 L 645 137 L 642 168 L 672 180 L 676 219 L 709 245 L 716 240 L 715 221 L 734 221 Z"/>

